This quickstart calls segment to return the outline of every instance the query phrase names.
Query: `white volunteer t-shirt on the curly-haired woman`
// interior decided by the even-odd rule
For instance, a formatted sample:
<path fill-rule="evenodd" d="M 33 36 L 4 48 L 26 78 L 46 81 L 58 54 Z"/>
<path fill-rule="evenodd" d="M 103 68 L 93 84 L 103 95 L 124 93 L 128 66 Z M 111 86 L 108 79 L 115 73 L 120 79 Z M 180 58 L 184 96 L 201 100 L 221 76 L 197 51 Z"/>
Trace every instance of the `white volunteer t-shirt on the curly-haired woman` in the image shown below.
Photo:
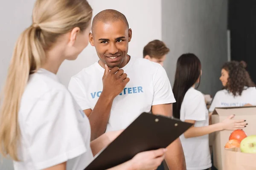
<path fill-rule="evenodd" d="M 241 96 L 233 96 L 226 89 L 218 91 L 212 100 L 209 111 L 214 111 L 215 108 L 221 107 L 239 107 L 245 104 L 256 105 L 256 88 L 244 87 Z"/>

